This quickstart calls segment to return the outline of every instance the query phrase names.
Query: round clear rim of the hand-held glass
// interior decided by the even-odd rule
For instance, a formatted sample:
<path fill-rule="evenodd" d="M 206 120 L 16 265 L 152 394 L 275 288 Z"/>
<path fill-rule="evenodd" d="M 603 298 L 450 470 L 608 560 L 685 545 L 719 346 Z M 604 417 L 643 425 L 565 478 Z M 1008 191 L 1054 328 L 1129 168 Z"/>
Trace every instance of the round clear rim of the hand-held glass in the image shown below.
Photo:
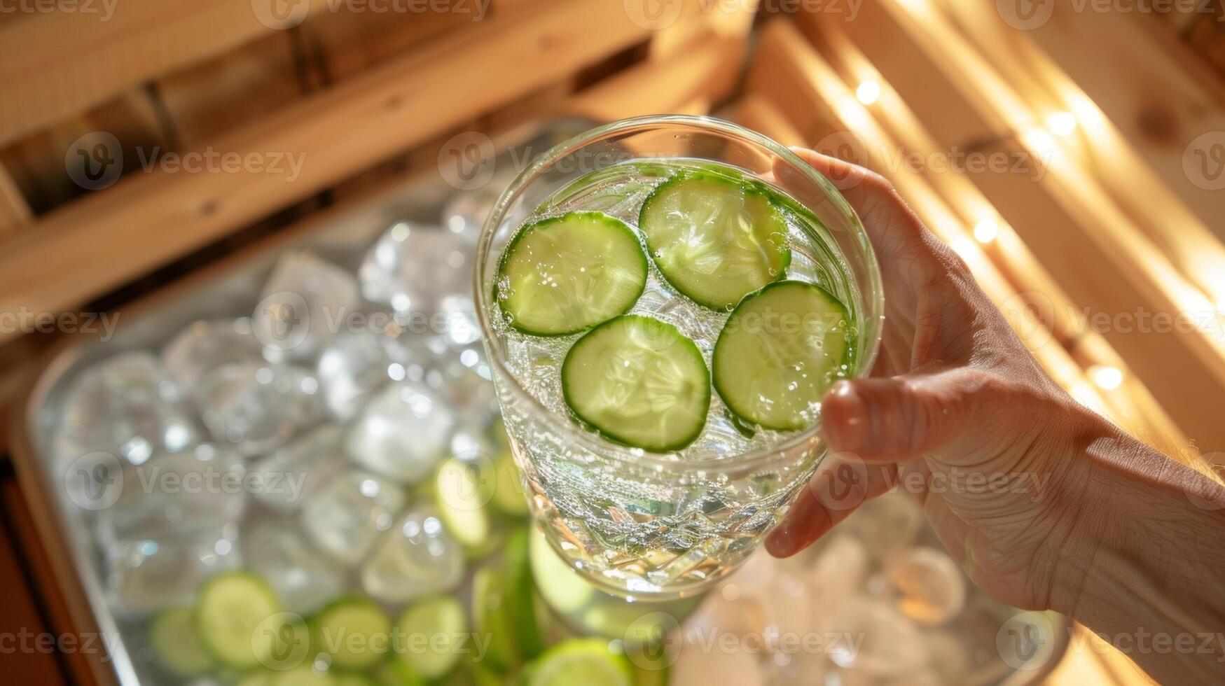
<path fill-rule="evenodd" d="M 675 453 L 653 453 L 642 448 L 614 443 L 551 412 L 539 401 L 539 398 L 529 393 L 527 388 L 519 383 L 519 380 L 516 379 L 510 369 L 507 369 L 506 363 L 502 359 L 503 355 L 500 354 L 501 349 L 496 342 L 496 333 L 494 332 L 492 322 L 490 320 L 490 311 L 494 306 L 496 306 L 496 303 L 492 303 L 491 300 L 486 301 L 488 294 L 485 293 L 485 279 L 483 277 L 485 276 L 494 236 L 496 235 L 497 229 L 502 223 L 502 217 L 505 216 L 511 202 L 519 195 L 522 189 L 539 178 L 543 169 L 552 165 L 557 159 L 576 152 L 594 140 L 620 131 L 666 125 L 706 129 L 734 138 L 740 138 L 741 141 L 764 148 L 771 154 L 783 158 L 799 169 L 806 178 L 809 178 L 809 180 L 813 181 L 824 192 L 826 197 L 831 200 L 834 206 L 843 212 L 843 214 L 845 214 L 851 229 L 855 233 L 854 238 L 859 244 L 860 252 L 865 260 L 870 282 L 866 284 L 856 283 L 856 285 L 861 292 L 861 298 L 865 300 L 865 304 L 869 307 L 875 309 L 875 314 L 865 312 L 861 317 L 861 326 L 867 327 L 865 339 L 866 354 L 862 358 L 862 363 L 856 366 L 855 374 L 851 377 L 860 379 L 871 372 L 871 369 L 876 363 L 876 355 L 880 350 L 883 328 L 881 320 L 884 315 L 884 293 L 881 283 L 881 270 L 876 258 L 876 251 L 872 249 L 872 241 L 869 239 L 867 232 L 864 229 L 864 224 L 860 222 L 855 211 L 851 209 L 846 198 L 843 197 L 842 192 L 839 192 L 823 174 L 813 169 L 809 163 L 804 162 L 797 154 L 788 149 L 786 146 L 783 146 L 762 134 L 752 131 L 751 129 L 746 129 L 739 124 L 718 119 L 715 116 L 664 114 L 620 119 L 617 121 L 595 126 L 561 143 L 557 143 L 556 146 L 549 148 L 544 154 L 537 157 L 526 169 L 519 172 L 506 190 L 499 196 L 497 202 L 494 205 L 494 208 L 485 218 L 485 223 L 481 225 L 480 236 L 477 239 L 477 265 L 473 270 L 473 279 L 475 282 L 474 294 L 477 300 L 477 318 L 480 322 L 481 334 L 485 337 L 485 345 L 490 358 L 489 361 L 495 368 L 494 374 L 502 376 L 501 380 L 495 380 L 495 383 L 508 383 L 508 390 L 527 401 L 532 405 L 530 412 L 543 414 L 545 417 L 544 421 L 549 424 L 551 429 L 556 430 L 557 434 L 566 435 L 568 439 L 577 441 L 584 448 L 589 448 L 590 452 L 601 457 L 611 454 L 619 461 L 632 462 L 637 466 L 653 467 L 658 470 L 673 472 L 706 472 L 712 469 L 719 472 L 726 472 L 730 469 L 752 470 L 772 464 L 775 461 L 794 461 L 794 457 L 789 457 L 791 450 L 811 442 L 820 434 L 820 418 L 817 418 L 817 421 L 807 429 L 804 429 L 793 436 L 788 436 L 785 440 L 766 448 L 758 448 L 731 457 L 686 461 L 676 457 Z"/>

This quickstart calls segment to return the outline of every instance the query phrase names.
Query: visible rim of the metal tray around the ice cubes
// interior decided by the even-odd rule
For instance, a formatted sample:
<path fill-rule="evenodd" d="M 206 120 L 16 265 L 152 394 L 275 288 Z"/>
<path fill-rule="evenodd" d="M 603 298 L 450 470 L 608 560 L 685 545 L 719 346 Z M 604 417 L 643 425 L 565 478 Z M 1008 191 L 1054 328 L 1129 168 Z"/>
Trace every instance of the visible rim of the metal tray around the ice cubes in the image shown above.
<path fill-rule="evenodd" d="M 564 119 L 511 131 L 500 137 L 500 143 L 508 145 L 495 148 L 503 151 L 495 167 L 522 165 L 589 126 L 589 121 Z M 72 630 L 83 637 L 108 638 L 109 654 L 85 655 L 98 682 L 135 686 L 147 679 L 141 660 L 132 653 L 131 637 L 121 631 L 121 622 L 105 599 L 98 541 L 93 540 L 81 510 L 65 495 L 60 475 L 50 468 L 50 434 L 56 419 L 53 408 L 59 405 L 69 382 L 103 358 L 126 350 L 159 349 L 194 321 L 249 315 L 274 262 L 288 250 L 310 249 L 356 271 L 365 251 L 387 227 L 405 219 L 436 223 L 441 208 L 454 194 L 454 185 L 440 174 L 398 179 L 359 202 L 325 211 L 125 307 L 109 341 L 99 341 L 99 334 L 64 337 L 32 370 L 29 390 L 11 418 L 13 461 L 54 581 L 65 597 Z M 1057 621 L 1062 624 L 1056 626 L 1052 658 L 1041 669 L 1017 671 L 1003 682 L 1030 682 L 1054 669 L 1068 636 L 1066 620 Z"/>

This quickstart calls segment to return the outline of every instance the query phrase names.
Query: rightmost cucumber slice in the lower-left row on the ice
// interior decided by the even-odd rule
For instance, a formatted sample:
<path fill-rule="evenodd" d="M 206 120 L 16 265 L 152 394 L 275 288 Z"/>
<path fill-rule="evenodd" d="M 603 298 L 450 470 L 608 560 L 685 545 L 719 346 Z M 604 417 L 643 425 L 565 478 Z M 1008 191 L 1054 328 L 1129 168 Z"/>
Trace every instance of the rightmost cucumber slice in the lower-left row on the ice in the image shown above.
<path fill-rule="evenodd" d="M 463 606 L 448 595 L 418 603 L 399 616 L 404 652 L 399 659 L 423 679 L 437 679 L 459 662 L 468 632 Z"/>

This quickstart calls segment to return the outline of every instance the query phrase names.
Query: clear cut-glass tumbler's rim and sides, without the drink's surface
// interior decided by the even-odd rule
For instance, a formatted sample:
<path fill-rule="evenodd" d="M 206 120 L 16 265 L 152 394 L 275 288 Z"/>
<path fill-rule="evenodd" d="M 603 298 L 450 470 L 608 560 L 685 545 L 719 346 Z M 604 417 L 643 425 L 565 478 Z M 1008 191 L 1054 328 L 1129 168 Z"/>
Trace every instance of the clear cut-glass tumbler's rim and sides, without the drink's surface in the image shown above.
<path fill-rule="evenodd" d="M 516 230 L 576 179 L 626 160 L 669 158 L 735 167 L 785 187 L 816 216 L 823 235 L 812 240 L 840 251 L 846 272 L 848 306 L 856 320 L 855 376 L 872 368 L 883 316 L 876 257 L 845 200 L 785 147 L 735 124 L 675 115 L 616 121 L 554 147 L 511 183 L 485 221 L 475 279 L 514 459 L 533 516 L 562 560 L 595 586 L 642 600 L 693 595 L 735 570 L 785 514 L 826 453 L 817 426 L 767 450 L 697 458 L 616 445 L 549 409 L 507 364 L 512 332 L 496 321 L 494 282 Z"/>

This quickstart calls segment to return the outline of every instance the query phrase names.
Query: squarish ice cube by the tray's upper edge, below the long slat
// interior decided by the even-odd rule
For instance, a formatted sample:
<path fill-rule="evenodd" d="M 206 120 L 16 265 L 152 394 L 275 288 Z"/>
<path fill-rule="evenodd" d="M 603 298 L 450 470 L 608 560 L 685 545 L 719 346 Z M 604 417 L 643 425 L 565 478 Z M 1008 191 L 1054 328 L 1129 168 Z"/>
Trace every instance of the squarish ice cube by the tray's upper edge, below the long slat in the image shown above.
<path fill-rule="evenodd" d="M 307 360 L 345 326 L 359 304 L 349 272 L 310 252 L 290 252 L 265 283 L 251 328 L 273 361 Z"/>

